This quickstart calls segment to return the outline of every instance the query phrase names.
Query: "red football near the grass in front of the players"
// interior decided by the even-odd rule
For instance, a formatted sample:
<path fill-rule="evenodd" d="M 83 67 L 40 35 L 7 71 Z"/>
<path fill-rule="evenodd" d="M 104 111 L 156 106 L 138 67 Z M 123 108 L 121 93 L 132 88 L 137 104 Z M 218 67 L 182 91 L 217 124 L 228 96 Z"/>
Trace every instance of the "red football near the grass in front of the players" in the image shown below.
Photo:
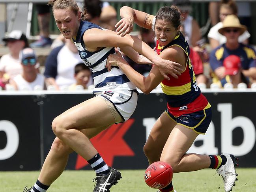
<path fill-rule="evenodd" d="M 162 189 L 172 181 L 172 167 L 163 161 L 157 161 L 148 166 L 145 172 L 145 182 L 154 189 Z"/>

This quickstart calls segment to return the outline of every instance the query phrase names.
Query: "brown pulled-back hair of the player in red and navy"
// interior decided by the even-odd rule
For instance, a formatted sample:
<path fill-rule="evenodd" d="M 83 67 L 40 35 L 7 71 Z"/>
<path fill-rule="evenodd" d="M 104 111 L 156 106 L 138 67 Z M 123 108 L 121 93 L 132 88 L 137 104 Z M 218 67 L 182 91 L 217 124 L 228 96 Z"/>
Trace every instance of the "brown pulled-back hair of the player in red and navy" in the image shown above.
<path fill-rule="evenodd" d="M 166 6 L 166 7 L 161 7 L 157 11 L 157 15 L 155 16 L 156 21 L 157 19 L 162 19 L 164 21 L 169 21 L 172 23 L 172 25 L 175 28 L 178 28 L 178 26 L 181 24 L 181 17 L 180 17 L 180 12 L 178 7 L 176 6 Z"/>

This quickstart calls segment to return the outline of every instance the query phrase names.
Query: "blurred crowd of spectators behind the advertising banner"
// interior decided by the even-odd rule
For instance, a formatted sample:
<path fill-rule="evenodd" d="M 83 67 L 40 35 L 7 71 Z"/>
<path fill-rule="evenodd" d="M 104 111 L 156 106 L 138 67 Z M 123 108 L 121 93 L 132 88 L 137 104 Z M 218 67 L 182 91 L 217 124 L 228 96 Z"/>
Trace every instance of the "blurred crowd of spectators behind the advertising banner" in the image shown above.
<path fill-rule="evenodd" d="M 190 45 L 190 59 L 199 85 L 224 88 L 240 83 L 250 88 L 256 83 L 256 52 L 249 45 L 247 26 L 240 24 L 234 0 L 209 3 L 211 28 L 207 40 L 202 38 L 198 22 L 190 15 L 193 11 L 189 0 L 174 0 L 182 15 L 181 32 Z M 84 0 L 80 5 L 87 9 L 87 20 L 102 28 L 115 30 L 117 11 L 107 2 Z M 82 63 L 77 48 L 62 35 L 53 42 L 49 37 L 49 6 L 36 6 L 40 39 L 29 45 L 26 35 L 14 30 L 3 39 L 9 54 L 0 58 L 0 88 L 9 90 L 80 90 L 93 87 L 90 68 Z M 219 14 L 217 14 L 219 13 Z M 219 19 L 219 22 L 218 22 Z M 140 28 L 138 37 L 151 48 L 155 47 L 154 32 Z M 51 46 L 49 56 L 39 73 L 34 47 Z M 32 47 L 32 48 L 28 48 Z M 207 47 L 207 49 L 206 49 Z M 151 65 L 139 65 L 123 55 L 139 73 L 146 75 Z M 42 64 L 41 64 L 42 65 Z"/>

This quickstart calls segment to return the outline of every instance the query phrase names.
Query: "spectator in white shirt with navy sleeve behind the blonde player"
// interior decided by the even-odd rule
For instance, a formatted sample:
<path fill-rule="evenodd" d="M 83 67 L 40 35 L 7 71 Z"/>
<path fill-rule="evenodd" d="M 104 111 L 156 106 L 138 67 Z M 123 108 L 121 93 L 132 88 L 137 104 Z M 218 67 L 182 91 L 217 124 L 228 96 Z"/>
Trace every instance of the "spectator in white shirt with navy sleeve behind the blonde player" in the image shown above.
<path fill-rule="evenodd" d="M 53 85 L 56 90 L 60 90 L 60 86 L 74 84 L 75 65 L 81 62 L 75 44 L 70 39 L 65 39 L 65 45 L 54 48 L 46 59 L 46 85 Z"/>

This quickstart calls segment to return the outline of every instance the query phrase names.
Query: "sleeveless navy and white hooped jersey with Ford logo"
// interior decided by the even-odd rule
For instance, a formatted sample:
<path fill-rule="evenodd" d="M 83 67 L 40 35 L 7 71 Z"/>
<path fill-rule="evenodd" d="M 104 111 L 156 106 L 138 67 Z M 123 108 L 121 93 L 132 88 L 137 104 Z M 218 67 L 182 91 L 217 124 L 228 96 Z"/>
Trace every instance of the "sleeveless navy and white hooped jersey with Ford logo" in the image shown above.
<path fill-rule="evenodd" d="M 114 47 L 102 47 L 100 50 L 94 52 L 86 50 L 83 35 L 86 30 L 92 28 L 104 30 L 91 22 L 81 21 L 77 37 L 76 39 L 72 38 L 72 40 L 78 49 L 80 58 L 84 61 L 85 65 L 92 68 L 95 86 L 93 93 L 100 94 L 106 89 L 136 90 L 136 86 L 130 82 L 127 76 L 118 67 L 112 67 L 111 71 L 108 72 L 106 68 L 107 58 L 108 55 L 116 53 Z"/>

